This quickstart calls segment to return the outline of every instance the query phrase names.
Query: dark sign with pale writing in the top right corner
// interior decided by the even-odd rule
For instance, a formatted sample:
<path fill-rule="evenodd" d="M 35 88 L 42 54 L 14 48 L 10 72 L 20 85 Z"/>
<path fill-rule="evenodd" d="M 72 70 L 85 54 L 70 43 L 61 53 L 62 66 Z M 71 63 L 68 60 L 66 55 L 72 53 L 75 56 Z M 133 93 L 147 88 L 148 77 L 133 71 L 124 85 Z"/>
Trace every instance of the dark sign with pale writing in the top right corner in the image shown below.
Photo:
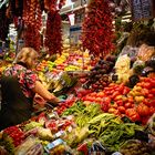
<path fill-rule="evenodd" d="M 134 21 L 154 18 L 153 0 L 132 0 L 131 3 Z"/>

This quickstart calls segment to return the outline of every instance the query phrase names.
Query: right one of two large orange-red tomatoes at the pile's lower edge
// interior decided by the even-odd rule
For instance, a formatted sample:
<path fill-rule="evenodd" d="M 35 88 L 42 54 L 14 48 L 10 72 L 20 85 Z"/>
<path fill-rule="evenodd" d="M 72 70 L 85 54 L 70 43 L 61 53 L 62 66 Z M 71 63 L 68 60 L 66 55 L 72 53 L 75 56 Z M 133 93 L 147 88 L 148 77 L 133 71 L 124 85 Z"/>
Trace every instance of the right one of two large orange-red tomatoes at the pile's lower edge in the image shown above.
<path fill-rule="evenodd" d="M 148 116 L 149 115 L 149 107 L 143 103 L 137 105 L 137 112 L 141 116 Z"/>

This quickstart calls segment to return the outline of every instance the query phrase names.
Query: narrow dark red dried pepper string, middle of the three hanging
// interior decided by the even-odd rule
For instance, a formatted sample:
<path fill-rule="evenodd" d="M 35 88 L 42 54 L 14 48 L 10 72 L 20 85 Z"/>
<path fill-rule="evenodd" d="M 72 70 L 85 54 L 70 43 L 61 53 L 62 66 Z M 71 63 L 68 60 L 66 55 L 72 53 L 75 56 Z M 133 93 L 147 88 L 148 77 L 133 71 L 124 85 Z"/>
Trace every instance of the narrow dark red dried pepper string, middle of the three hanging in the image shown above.
<path fill-rule="evenodd" d="M 56 2 L 58 0 L 44 0 L 44 8 L 49 11 L 44 45 L 49 49 L 49 54 L 62 52 L 61 16 Z M 59 9 L 64 3 L 65 0 L 60 0 Z"/>

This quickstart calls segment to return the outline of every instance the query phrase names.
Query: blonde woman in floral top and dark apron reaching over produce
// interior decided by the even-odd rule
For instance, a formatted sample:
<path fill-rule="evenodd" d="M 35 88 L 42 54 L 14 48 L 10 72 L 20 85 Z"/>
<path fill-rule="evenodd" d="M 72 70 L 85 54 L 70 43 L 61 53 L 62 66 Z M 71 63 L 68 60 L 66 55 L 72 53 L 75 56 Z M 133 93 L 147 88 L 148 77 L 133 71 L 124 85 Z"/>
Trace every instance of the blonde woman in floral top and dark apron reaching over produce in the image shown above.
<path fill-rule="evenodd" d="M 31 117 L 35 94 L 44 101 L 56 104 L 59 99 L 50 93 L 32 71 L 38 53 L 32 48 L 23 48 L 13 65 L 6 69 L 1 78 L 2 107 L 0 111 L 0 131 L 20 124 Z"/>

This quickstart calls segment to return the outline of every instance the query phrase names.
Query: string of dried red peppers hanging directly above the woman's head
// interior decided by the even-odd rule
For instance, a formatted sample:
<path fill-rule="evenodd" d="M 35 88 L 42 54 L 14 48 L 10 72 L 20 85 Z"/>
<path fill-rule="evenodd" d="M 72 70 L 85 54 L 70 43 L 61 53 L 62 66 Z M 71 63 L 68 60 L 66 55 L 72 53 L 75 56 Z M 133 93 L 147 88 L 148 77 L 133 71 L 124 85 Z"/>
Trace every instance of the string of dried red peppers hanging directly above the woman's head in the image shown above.
<path fill-rule="evenodd" d="M 41 7 L 39 0 L 24 0 L 23 21 L 24 21 L 24 42 L 25 46 L 34 48 L 37 51 L 41 48 L 40 30 L 42 25 Z"/>

